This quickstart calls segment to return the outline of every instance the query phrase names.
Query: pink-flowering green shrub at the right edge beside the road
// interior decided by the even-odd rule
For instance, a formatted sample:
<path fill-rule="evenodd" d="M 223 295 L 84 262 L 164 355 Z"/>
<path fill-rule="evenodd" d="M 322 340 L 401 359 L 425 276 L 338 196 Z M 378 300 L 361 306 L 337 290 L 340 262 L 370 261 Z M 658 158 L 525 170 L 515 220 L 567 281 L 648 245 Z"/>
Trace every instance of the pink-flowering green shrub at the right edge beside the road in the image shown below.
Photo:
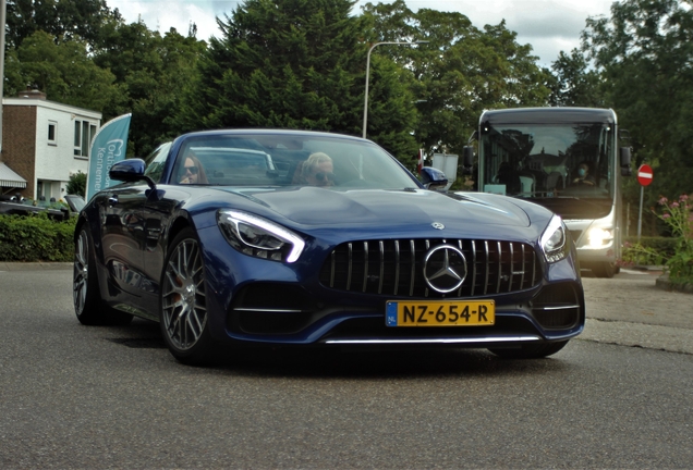
<path fill-rule="evenodd" d="M 673 282 L 693 281 L 693 203 L 689 203 L 689 196 L 681 195 L 678 200 L 669 201 L 659 198 L 661 213 L 653 212 L 661 219 L 678 239 L 677 250 L 667 260 L 669 280 Z"/>

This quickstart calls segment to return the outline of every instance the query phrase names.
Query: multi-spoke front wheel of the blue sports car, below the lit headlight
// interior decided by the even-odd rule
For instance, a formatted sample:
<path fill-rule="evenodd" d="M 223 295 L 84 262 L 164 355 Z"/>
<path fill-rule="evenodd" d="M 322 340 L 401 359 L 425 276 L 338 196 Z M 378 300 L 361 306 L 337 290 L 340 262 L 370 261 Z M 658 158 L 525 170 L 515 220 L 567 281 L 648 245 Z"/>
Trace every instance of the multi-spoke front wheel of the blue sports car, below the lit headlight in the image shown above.
<path fill-rule="evenodd" d="M 192 228 L 183 230 L 173 239 L 160 286 L 159 323 L 169 350 L 182 363 L 209 363 L 216 342 L 209 334 L 205 270 Z"/>

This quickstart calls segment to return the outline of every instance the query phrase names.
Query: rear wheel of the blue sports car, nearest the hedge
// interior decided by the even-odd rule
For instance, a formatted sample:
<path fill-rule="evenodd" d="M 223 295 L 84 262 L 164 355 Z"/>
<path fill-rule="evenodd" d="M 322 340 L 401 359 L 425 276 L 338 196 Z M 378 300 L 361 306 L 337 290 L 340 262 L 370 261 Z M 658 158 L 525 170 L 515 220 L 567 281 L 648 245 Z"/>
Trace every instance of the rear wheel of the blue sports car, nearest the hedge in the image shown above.
<path fill-rule="evenodd" d="M 132 314 L 112 309 L 101 299 L 94 244 L 86 225 L 82 226 L 74 243 L 72 300 L 82 324 L 125 325 L 132 321 Z"/>

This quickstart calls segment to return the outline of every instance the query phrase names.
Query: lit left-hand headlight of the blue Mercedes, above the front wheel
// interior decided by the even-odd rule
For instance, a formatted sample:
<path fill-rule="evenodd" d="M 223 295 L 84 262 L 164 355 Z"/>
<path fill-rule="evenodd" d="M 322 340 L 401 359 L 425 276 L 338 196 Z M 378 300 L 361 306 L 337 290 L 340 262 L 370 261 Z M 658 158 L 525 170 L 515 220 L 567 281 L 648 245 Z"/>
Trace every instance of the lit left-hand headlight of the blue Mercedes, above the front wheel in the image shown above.
<path fill-rule="evenodd" d="M 247 212 L 220 210 L 217 223 L 233 248 L 252 257 L 294 262 L 305 247 L 299 235 Z"/>

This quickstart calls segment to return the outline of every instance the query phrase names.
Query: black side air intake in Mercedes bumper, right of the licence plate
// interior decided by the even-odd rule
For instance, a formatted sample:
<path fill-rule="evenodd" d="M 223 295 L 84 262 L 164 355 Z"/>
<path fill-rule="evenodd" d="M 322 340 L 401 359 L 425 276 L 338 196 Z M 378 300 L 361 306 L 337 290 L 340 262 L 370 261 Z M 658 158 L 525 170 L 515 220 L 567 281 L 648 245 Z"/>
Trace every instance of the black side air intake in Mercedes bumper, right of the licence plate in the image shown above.
<path fill-rule="evenodd" d="M 547 330 L 572 327 L 580 320 L 580 300 L 570 284 L 544 287 L 532 300 L 532 314 Z"/>

